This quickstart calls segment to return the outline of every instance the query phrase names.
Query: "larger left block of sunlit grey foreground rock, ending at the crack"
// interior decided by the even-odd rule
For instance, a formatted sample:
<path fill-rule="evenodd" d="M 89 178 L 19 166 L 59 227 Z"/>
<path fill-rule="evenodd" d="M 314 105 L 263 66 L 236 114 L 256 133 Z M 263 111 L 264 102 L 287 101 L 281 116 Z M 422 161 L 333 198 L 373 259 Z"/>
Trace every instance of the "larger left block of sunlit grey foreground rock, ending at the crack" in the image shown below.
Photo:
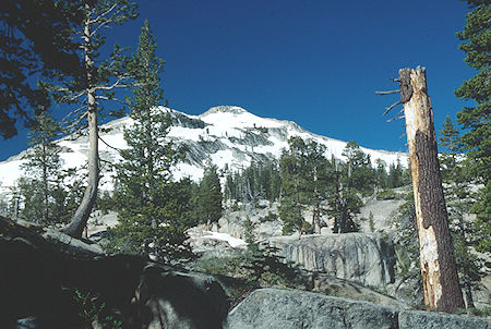
<path fill-rule="evenodd" d="M 224 329 L 396 329 L 397 309 L 294 290 L 254 291 Z"/>

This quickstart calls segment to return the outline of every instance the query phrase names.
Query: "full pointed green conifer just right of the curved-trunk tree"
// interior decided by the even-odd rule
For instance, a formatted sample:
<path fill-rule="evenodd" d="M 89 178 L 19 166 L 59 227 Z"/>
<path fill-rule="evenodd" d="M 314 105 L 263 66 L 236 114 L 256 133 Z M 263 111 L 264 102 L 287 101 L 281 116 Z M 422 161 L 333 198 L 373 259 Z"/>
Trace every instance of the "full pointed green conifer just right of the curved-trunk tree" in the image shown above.
<path fill-rule="evenodd" d="M 166 141 L 170 114 L 158 107 L 163 101 L 159 73 L 164 61 L 156 56 L 156 40 L 148 23 L 142 27 L 136 53 L 129 63 L 135 76 L 130 117 L 133 125 L 124 130 L 128 149 L 117 167 L 119 224 L 113 244 L 118 251 L 154 255 L 161 260 L 189 256 L 184 245 L 182 219 L 189 215 L 190 194 L 185 183 L 171 181 L 171 167 L 180 156 Z M 179 197 L 177 197 L 179 196 Z"/>

